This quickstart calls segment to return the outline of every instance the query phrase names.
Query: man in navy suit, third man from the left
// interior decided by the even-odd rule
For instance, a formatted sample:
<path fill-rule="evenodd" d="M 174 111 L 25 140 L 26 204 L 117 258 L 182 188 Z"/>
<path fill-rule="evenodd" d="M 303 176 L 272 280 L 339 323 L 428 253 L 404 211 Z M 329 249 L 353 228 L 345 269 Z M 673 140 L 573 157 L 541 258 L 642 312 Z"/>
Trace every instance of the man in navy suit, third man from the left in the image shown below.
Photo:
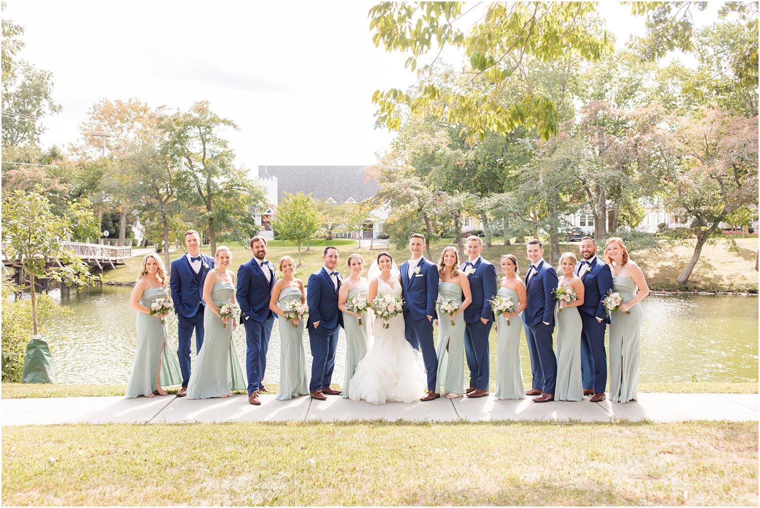
<path fill-rule="evenodd" d="M 330 387 L 335 367 L 337 335 L 343 326 L 343 313 L 337 309 L 337 293 L 343 278 L 335 271 L 338 252 L 326 247 L 322 254 L 323 265 L 309 275 L 306 303 L 309 305 L 309 344 L 312 348 L 312 380 L 309 392 L 312 398 L 325 400 L 328 395 L 340 395 L 340 390 Z"/>

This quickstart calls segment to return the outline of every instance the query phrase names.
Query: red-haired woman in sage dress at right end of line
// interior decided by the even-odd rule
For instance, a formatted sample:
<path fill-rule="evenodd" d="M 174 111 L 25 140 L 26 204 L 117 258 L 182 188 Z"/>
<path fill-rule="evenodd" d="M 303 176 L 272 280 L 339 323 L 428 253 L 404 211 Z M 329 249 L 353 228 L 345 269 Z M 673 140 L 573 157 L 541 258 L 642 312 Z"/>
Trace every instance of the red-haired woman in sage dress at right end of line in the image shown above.
<path fill-rule="evenodd" d="M 647 297 L 649 287 L 644 272 L 629 258 L 622 239 L 607 240 L 604 259 L 613 272 L 613 291 L 623 300 L 620 310 L 610 314 L 610 400 L 625 403 L 638 397 L 643 319 L 638 303 Z"/>

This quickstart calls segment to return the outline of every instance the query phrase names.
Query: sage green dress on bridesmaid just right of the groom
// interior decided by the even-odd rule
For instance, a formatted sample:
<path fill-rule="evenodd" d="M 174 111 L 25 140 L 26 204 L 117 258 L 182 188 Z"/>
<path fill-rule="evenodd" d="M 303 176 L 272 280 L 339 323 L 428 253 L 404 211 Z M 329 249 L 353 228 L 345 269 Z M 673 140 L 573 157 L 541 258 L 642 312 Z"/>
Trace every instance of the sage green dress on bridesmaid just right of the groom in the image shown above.
<path fill-rule="evenodd" d="M 453 282 L 439 282 L 438 294 L 441 299 L 448 298 L 462 303 L 462 287 Z M 464 313 L 459 313 L 451 325 L 451 318 L 439 313 L 438 316 L 438 386 L 448 393 L 464 394 Z M 448 346 L 448 351 L 447 351 Z"/>

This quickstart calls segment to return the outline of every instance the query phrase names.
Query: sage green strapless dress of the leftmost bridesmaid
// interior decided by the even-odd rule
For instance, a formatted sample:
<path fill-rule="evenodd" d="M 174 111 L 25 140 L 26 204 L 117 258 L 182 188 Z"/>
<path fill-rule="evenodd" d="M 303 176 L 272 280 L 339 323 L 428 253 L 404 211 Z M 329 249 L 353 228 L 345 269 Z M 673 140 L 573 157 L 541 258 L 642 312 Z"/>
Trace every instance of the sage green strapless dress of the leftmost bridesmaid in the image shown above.
<path fill-rule="evenodd" d="M 163 287 L 148 287 L 143 291 L 140 303 L 150 307 L 157 298 L 166 298 Z M 164 319 L 166 320 L 166 319 Z M 139 395 L 150 395 L 156 389 L 158 364 L 161 363 L 161 386 L 173 386 L 182 383 L 182 372 L 179 362 L 169 347 L 166 335 L 166 325 L 161 324 L 161 318 L 138 313 L 135 320 L 138 329 L 138 350 L 135 353 L 135 363 L 125 397 L 135 398 Z"/>

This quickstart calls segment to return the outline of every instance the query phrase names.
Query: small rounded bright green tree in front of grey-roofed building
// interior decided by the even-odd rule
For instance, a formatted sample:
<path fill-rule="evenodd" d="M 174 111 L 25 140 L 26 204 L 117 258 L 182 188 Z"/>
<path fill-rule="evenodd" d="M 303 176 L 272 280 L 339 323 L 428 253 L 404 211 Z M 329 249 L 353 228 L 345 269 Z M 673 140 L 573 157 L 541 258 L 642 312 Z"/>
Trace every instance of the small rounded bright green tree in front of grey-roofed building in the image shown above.
<path fill-rule="evenodd" d="M 290 240 L 298 246 L 298 265 L 301 266 L 301 246 L 306 240 L 314 237 L 321 222 L 317 207 L 312 201 L 312 194 L 295 195 L 283 192 L 283 197 L 277 203 L 277 209 L 272 217 L 272 226 L 283 240 Z"/>

